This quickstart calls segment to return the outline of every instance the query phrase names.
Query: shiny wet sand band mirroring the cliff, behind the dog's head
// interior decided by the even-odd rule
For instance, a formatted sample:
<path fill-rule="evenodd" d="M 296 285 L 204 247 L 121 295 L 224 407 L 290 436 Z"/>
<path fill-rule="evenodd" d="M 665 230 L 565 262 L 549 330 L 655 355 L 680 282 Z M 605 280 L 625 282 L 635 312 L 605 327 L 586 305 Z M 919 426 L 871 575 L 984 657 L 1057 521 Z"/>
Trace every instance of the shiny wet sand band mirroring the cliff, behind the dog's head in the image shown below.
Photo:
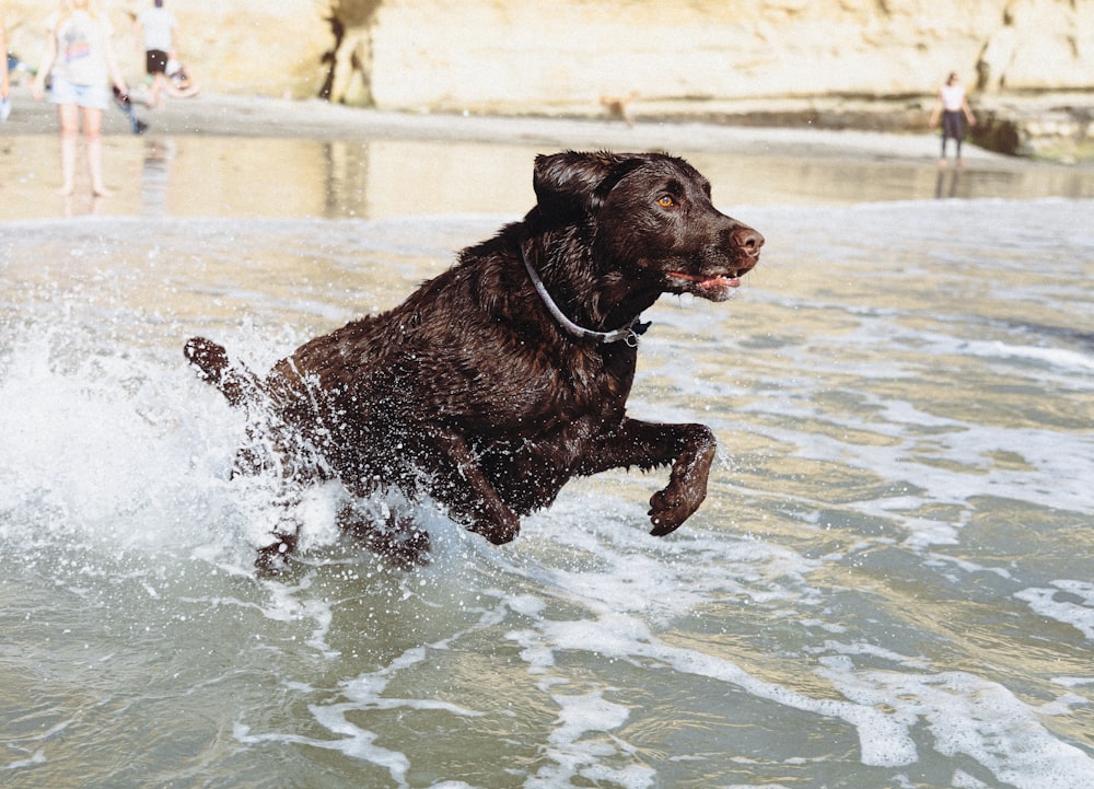
<path fill-rule="evenodd" d="M 108 137 L 108 200 L 59 201 L 56 140 L 9 138 L 0 218 L 105 213 L 173 217 L 384 219 L 416 214 L 521 214 L 534 204 L 532 143 L 290 138 Z M 551 149 L 552 150 L 552 149 Z M 969 167 L 922 162 L 674 150 L 706 173 L 730 210 L 759 205 L 849 205 L 934 197 L 1094 197 L 1094 170 Z M 18 197 L 16 197 L 18 196 Z M 13 199 L 14 198 L 14 199 Z"/>

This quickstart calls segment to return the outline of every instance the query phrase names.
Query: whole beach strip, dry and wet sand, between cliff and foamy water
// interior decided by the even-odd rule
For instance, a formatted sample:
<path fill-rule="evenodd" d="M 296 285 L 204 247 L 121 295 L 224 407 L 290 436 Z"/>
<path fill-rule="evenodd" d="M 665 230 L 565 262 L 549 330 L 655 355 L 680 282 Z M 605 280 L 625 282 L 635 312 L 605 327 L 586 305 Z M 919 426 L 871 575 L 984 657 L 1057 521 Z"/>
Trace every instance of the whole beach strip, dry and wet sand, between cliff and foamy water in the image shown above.
<path fill-rule="evenodd" d="M 1094 169 L 965 147 L 940 172 L 934 134 L 752 128 L 608 118 L 400 114 L 319 101 L 200 95 L 150 111 L 144 135 L 105 117 L 114 195 L 59 198 L 56 111 L 13 91 L 0 127 L 0 219 L 123 216 L 363 217 L 498 213 L 534 201 L 532 160 L 561 149 L 666 150 L 693 161 L 725 206 L 930 197 L 1094 197 Z"/>

